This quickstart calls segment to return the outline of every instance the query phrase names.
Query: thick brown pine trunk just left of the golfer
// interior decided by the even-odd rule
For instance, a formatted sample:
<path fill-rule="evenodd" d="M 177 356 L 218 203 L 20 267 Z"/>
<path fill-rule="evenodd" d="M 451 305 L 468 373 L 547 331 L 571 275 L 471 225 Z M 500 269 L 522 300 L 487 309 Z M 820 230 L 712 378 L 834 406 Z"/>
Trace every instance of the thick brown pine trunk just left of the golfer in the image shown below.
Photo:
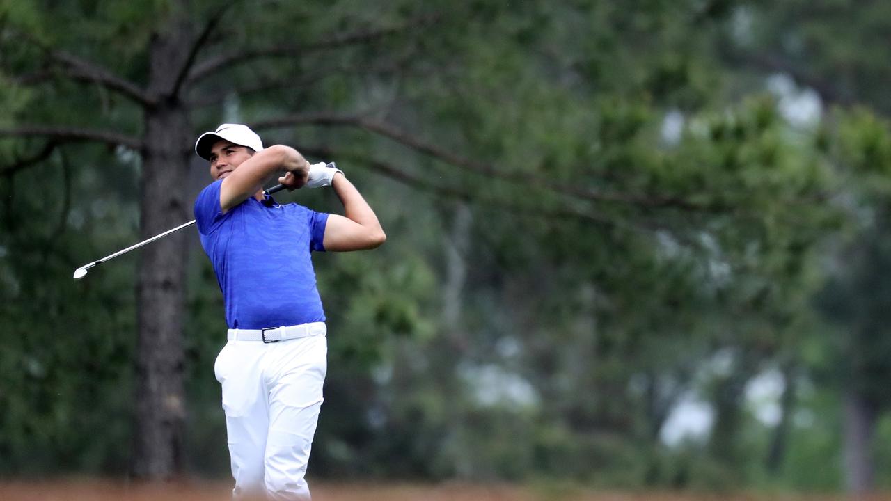
<path fill-rule="evenodd" d="M 190 40 L 187 24 L 172 21 L 151 43 L 149 91 L 161 98 L 145 112 L 143 239 L 191 219 L 185 185 L 192 130 L 183 103 L 170 93 Z M 182 331 L 189 235 L 177 232 L 152 242 L 143 248 L 139 267 L 133 472 L 142 479 L 170 479 L 184 465 Z"/>

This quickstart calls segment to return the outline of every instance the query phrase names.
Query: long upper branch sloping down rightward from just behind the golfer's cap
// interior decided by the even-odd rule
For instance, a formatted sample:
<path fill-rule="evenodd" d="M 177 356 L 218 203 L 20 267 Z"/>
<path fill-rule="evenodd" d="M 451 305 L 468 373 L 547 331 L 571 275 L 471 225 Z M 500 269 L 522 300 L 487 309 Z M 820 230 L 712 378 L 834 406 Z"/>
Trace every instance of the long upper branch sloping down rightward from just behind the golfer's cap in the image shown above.
<path fill-rule="evenodd" d="M 421 152 L 439 160 L 443 160 L 446 163 L 459 168 L 464 168 L 465 170 L 474 172 L 481 176 L 496 177 L 522 185 L 543 186 L 552 192 L 567 194 L 585 201 L 621 202 L 650 209 L 674 208 L 697 211 L 711 210 L 711 208 L 708 208 L 706 206 L 697 205 L 691 203 L 690 201 L 685 201 L 683 199 L 675 197 L 638 197 L 618 193 L 601 193 L 578 187 L 576 185 L 563 185 L 560 183 L 554 183 L 549 179 L 539 177 L 535 174 L 527 172 L 506 172 L 501 169 L 495 168 L 491 164 L 479 162 L 476 160 L 470 160 L 444 148 L 426 143 L 420 138 L 411 136 L 404 131 L 399 130 L 396 127 L 390 126 L 386 123 L 372 119 L 366 119 L 361 116 L 339 116 L 325 113 L 307 113 L 290 115 L 278 119 L 262 120 L 255 123 L 254 127 L 257 129 L 264 129 L 288 127 L 294 125 L 349 126 L 362 128 L 380 136 L 388 137 L 389 139 L 396 141 L 396 143 L 404 144 L 405 146 L 408 146 L 409 148 L 412 148 L 417 152 Z"/>

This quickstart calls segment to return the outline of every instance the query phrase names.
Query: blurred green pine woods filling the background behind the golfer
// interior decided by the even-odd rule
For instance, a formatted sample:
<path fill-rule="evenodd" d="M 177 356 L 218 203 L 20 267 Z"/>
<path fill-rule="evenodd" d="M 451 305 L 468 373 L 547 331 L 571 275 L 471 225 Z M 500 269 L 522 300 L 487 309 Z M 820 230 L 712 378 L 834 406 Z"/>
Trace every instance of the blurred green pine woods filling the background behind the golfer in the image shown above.
<path fill-rule="evenodd" d="M 388 234 L 314 257 L 311 476 L 888 489 L 889 33 L 879 0 L 0 2 L 0 478 L 228 475 L 195 230 L 71 274 L 191 219 L 235 121 Z"/>

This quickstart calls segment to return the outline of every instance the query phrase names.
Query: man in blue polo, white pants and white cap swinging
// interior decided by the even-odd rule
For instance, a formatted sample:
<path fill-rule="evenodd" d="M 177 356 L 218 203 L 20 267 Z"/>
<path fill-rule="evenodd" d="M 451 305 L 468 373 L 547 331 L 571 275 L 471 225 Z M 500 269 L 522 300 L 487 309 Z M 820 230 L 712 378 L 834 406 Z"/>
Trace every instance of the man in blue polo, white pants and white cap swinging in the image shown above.
<path fill-rule="evenodd" d="M 328 352 L 310 251 L 373 249 L 387 237 L 343 172 L 310 166 L 289 146 L 264 149 L 247 126 L 204 133 L 195 152 L 214 179 L 194 211 L 229 326 L 214 371 L 223 386 L 233 497 L 309 499 L 304 474 Z M 291 190 L 330 185 L 345 216 L 265 195 L 262 186 L 282 171 L 279 183 Z"/>

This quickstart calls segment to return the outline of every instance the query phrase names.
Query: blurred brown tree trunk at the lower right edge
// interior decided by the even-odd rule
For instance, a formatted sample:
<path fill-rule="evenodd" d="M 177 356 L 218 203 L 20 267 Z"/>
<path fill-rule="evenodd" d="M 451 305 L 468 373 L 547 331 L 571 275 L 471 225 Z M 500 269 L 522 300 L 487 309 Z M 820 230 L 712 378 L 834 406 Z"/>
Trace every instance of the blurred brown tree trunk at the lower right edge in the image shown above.
<path fill-rule="evenodd" d="M 848 492 L 865 494 L 874 480 L 871 444 L 876 412 L 857 390 L 846 389 L 844 399 L 845 484 Z"/>

